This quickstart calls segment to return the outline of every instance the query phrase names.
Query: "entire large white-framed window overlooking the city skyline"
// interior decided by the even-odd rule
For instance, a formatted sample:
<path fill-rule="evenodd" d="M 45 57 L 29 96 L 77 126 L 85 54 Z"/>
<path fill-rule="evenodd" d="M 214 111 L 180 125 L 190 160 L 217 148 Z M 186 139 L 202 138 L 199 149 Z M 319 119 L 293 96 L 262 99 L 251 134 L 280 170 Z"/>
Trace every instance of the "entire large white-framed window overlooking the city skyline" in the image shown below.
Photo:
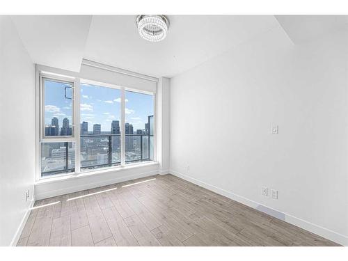
<path fill-rule="evenodd" d="M 154 160 L 154 93 L 45 74 L 40 97 L 41 177 Z"/>

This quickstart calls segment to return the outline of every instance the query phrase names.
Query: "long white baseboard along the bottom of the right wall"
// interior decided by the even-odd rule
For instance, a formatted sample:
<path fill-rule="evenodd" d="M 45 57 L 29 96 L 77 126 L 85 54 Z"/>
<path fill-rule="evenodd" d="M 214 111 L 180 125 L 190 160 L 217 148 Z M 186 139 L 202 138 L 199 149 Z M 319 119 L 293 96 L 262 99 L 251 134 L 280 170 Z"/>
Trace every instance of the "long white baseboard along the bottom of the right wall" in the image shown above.
<path fill-rule="evenodd" d="M 336 242 L 338 244 L 341 244 L 343 246 L 348 246 L 348 237 L 345 235 L 342 235 L 338 232 L 329 230 L 327 228 L 323 228 L 321 226 L 317 226 L 317 225 L 310 223 L 308 221 L 305 221 L 303 219 L 299 219 L 296 216 L 292 216 L 292 215 L 287 214 L 287 213 L 279 212 L 276 209 L 272 209 L 271 207 L 261 205 L 260 203 L 257 203 L 253 200 L 250 200 L 250 199 L 245 198 L 243 196 L 239 196 L 239 195 L 232 193 L 230 191 L 226 191 L 225 189 L 215 187 L 212 184 L 207 184 L 206 182 L 197 180 L 193 177 L 189 177 L 188 175 L 184 175 L 184 174 L 179 173 L 177 171 L 170 170 L 169 173 L 171 173 L 177 177 L 180 177 L 183 180 L 187 180 L 193 184 L 197 184 L 200 187 L 204 187 L 205 189 L 209 189 L 210 191 L 214 191 L 215 193 L 218 193 L 222 196 L 226 196 L 227 198 L 230 198 L 230 199 L 235 200 L 239 203 L 247 205 L 248 207 L 253 207 L 254 209 L 258 209 L 262 212 L 265 212 L 266 214 L 269 214 L 271 216 L 275 216 L 276 218 L 279 218 L 279 214 L 281 214 L 284 217 L 283 220 L 286 221 L 287 223 L 291 223 L 294 226 L 298 226 L 299 228 L 303 228 L 305 230 L 313 232 L 321 237 L 325 237 L 326 239 L 329 239 L 329 240 Z"/>

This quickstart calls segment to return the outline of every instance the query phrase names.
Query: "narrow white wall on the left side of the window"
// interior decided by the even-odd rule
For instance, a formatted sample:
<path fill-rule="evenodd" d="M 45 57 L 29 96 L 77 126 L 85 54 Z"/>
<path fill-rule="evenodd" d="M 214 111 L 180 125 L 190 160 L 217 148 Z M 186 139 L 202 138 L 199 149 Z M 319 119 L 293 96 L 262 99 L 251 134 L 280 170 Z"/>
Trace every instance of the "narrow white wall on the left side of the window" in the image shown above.
<path fill-rule="evenodd" d="M 0 246 L 9 246 L 31 205 L 24 191 L 33 193 L 35 180 L 35 66 L 1 15 L 0 79 Z"/>

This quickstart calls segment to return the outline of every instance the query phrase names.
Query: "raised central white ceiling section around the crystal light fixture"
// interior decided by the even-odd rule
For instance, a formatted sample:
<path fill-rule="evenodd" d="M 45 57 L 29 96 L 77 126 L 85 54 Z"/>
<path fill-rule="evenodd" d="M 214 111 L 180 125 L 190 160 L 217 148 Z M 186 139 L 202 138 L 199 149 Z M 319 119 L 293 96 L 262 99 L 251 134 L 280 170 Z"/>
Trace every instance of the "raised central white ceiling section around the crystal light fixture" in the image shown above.
<path fill-rule="evenodd" d="M 139 37 L 135 15 L 93 16 L 85 57 L 155 76 L 175 74 L 207 61 L 277 24 L 273 16 L 169 15 L 166 39 Z"/>

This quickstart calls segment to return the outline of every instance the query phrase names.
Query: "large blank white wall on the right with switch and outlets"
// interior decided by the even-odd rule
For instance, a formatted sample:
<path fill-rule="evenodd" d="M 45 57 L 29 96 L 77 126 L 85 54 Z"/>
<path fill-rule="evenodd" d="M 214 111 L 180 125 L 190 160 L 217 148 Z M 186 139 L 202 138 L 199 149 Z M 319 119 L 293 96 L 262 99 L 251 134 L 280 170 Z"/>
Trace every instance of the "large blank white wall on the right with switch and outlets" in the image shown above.
<path fill-rule="evenodd" d="M 279 26 L 173 77 L 171 173 L 348 244 L 347 47 Z"/>

